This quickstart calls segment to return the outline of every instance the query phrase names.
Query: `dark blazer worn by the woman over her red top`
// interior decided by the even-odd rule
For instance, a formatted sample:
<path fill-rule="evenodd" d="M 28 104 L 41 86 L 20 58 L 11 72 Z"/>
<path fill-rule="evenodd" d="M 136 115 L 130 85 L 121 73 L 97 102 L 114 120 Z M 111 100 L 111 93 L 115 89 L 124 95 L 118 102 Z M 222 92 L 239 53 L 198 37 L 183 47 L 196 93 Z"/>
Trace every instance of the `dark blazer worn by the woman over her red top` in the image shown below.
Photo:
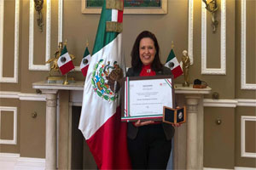
<path fill-rule="evenodd" d="M 141 72 L 141 70 L 135 71 L 133 68 L 129 68 L 126 73 L 126 77 L 139 77 L 140 72 Z M 172 75 L 172 71 L 169 68 L 163 66 L 161 71 L 155 71 L 155 74 L 156 74 L 156 76 Z M 172 125 L 165 123 L 165 122 L 162 122 L 162 126 L 166 133 L 166 139 L 171 140 L 174 135 L 174 127 L 172 127 Z M 129 122 L 128 128 L 127 128 L 127 137 L 129 139 L 135 139 L 137 137 L 137 131 L 138 131 L 138 127 L 133 126 L 133 124 L 131 122 Z"/>

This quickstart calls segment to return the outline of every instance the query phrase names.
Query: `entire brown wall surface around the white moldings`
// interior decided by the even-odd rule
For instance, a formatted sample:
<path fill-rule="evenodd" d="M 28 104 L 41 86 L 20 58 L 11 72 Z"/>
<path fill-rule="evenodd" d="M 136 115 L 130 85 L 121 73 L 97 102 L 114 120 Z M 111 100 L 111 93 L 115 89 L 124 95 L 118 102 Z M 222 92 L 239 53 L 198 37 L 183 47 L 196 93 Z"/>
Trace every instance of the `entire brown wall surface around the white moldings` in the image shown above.
<path fill-rule="evenodd" d="M 46 1 L 45 1 L 46 2 Z M 217 32 L 212 34 L 211 16 L 207 13 L 207 67 L 220 67 L 220 40 L 221 40 L 221 10 L 217 12 L 219 25 Z M 49 71 L 29 71 L 29 1 L 20 0 L 20 29 L 19 29 L 19 64 L 18 82 L 0 82 L 1 92 L 17 92 L 22 94 L 35 94 L 32 82 L 44 80 L 49 76 Z M 75 65 L 79 65 L 84 54 L 85 43 L 88 40 L 89 50 L 92 52 L 96 29 L 100 14 L 81 14 L 79 0 L 63 1 L 63 36 L 67 39 L 67 49 L 74 54 Z M 247 83 L 256 83 L 256 2 L 247 1 Z M 168 14 L 125 14 L 123 45 L 125 50 L 126 65 L 131 66 L 131 47 L 137 34 L 143 30 L 153 31 L 158 38 L 161 49 L 161 61 L 164 63 L 174 42 L 177 59 L 181 60 L 183 49 L 188 49 L 189 29 L 189 4 L 187 0 L 168 0 Z M 3 77 L 14 77 L 14 50 L 15 50 L 15 0 L 4 0 L 3 20 Z M 40 32 L 34 24 L 34 64 L 44 65 L 46 42 L 46 3 L 44 3 L 44 31 Z M 226 0 L 226 74 L 202 75 L 201 74 L 201 0 L 194 1 L 194 27 L 193 27 L 193 55 L 194 65 L 190 67 L 190 81 L 195 78 L 206 81 L 212 92 L 218 92 L 221 99 L 256 99 L 255 89 L 241 89 L 241 0 Z M 53 57 L 58 42 L 58 2 L 51 1 L 51 34 L 50 56 Z M 81 72 L 72 72 L 76 80 L 84 81 Z M 183 77 L 178 77 L 176 83 L 183 82 Z M 207 95 L 211 99 L 212 94 Z M 0 106 L 15 106 L 18 108 L 18 139 L 17 144 L 0 144 L 0 152 L 20 153 L 24 157 L 44 158 L 45 144 L 45 102 L 24 101 L 20 99 L 0 98 Z M 33 111 L 38 112 L 36 118 L 31 117 Z M 255 158 L 241 158 L 241 116 L 256 116 L 255 106 L 228 106 L 205 107 L 204 117 L 204 167 L 255 167 Z M 2 113 L 1 113 L 2 114 Z M 3 118 L 11 124 L 12 116 Z M 222 124 L 217 126 L 215 120 L 222 119 Z M 255 127 L 255 123 L 247 125 Z M 7 132 L 12 127 L 1 123 L 0 135 L 2 138 L 11 138 Z M 253 136 L 252 136 L 253 137 Z M 247 138 L 247 141 L 255 141 Z M 214 146 L 214 147 L 213 147 Z M 249 143 L 247 150 L 253 149 Z"/>

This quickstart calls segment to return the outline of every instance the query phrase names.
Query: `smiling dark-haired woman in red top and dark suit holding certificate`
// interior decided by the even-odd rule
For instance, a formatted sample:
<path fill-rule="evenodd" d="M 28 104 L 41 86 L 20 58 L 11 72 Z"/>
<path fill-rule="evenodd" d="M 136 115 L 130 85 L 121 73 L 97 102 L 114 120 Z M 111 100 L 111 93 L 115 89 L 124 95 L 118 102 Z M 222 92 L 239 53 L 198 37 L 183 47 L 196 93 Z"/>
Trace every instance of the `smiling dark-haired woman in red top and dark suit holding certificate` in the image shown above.
<path fill-rule="evenodd" d="M 160 62 L 160 47 L 150 31 L 138 36 L 131 51 L 131 68 L 127 77 L 171 75 Z M 179 126 L 176 124 L 175 126 Z M 165 122 L 129 122 L 128 150 L 133 169 L 166 169 L 172 149 L 174 128 Z"/>

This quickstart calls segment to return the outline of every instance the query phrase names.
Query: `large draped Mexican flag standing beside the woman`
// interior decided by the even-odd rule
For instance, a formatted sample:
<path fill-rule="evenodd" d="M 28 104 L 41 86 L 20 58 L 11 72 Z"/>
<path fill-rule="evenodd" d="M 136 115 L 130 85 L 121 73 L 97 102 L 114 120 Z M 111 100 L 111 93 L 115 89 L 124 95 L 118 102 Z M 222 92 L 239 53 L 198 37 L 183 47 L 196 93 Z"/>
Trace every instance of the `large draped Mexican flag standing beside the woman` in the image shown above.
<path fill-rule="evenodd" d="M 106 2 L 107 1 L 107 2 Z M 107 4 L 107 5 L 106 5 Z M 96 40 L 84 83 L 79 129 L 100 169 L 131 169 L 126 122 L 121 122 L 119 81 L 125 75 L 122 51 L 123 0 L 104 0 Z M 116 15 L 117 16 L 117 15 Z"/>

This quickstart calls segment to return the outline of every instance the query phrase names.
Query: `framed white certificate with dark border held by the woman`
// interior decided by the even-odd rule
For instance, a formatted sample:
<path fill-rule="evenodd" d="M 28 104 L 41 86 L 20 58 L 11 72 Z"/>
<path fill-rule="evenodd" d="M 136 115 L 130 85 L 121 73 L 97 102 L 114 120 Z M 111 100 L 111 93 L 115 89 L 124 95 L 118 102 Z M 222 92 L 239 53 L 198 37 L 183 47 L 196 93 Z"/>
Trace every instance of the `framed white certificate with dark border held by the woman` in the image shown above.
<path fill-rule="evenodd" d="M 172 77 L 125 77 L 122 121 L 162 120 L 164 106 L 174 107 Z"/>

